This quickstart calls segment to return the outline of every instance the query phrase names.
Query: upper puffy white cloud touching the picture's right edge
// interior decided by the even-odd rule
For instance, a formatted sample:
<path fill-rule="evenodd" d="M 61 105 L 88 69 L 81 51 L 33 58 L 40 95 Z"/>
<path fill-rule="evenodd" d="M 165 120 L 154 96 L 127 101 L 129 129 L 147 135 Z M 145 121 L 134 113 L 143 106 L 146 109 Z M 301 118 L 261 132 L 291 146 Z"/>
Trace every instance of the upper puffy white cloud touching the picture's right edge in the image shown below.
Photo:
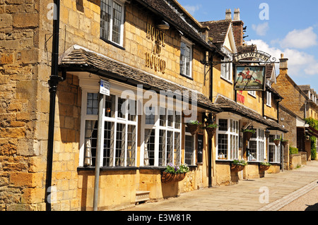
<path fill-rule="evenodd" d="M 288 32 L 286 37 L 281 40 L 282 48 L 307 49 L 317 45 L 317 35 L 313 28 L 306 28 L 305 30 L 293 30 Z"/>

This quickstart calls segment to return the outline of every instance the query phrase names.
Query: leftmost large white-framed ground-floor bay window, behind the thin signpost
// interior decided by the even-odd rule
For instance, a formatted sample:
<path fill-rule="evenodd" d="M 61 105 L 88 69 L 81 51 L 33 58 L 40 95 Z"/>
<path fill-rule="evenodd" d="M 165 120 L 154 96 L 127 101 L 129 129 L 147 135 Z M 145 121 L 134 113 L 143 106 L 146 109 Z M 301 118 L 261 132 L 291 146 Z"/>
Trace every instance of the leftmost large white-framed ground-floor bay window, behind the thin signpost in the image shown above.
<path fill-rule="evenodd" d="M 136 166 L 137 117 L 134 99 L 103 96 L 100 166 Z M 122 105 L 125 104 L 125 107 Z M 98 93 L 83 91 L 81 166 L 95 166 L 98 142 Z M 131 108 L 133 107 L 133 108 Z M 136 108 L 135 108 L 136 109 Z"/>

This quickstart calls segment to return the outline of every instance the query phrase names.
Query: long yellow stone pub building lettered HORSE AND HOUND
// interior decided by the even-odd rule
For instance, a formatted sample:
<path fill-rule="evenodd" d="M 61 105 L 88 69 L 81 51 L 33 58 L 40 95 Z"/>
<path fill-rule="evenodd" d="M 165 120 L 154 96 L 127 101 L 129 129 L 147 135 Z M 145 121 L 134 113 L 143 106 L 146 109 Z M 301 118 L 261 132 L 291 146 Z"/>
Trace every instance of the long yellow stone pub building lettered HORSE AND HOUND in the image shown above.
<path fill-rule="evenodd" d="M 255 50 L 237 11 L 222 36 L 211 26 L 221 22 L 199 23 L 175 0 L 59 3 L 59 17 L 51 1 L 0 3 L 0 210 L 120 209 L 264 176 L 259 162 L 279 171 L 272 140 L 287 130 L 273 66 L 266 92 L 234 90 L 231 57 Z M 242 172 L 230 171 L 235 158 L 249 162 Z M 182 181 L 163 182 L 169 164 L 189 166 Z"/>

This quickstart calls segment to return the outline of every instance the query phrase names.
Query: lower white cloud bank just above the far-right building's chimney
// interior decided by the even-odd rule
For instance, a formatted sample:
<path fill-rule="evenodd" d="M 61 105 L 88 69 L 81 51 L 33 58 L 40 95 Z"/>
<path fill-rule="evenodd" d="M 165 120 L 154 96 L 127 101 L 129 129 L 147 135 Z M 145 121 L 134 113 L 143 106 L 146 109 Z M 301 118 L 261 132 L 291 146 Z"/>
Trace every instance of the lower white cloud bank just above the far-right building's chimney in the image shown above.
<path fill-rule="evenodd" d="M 281 54 L 284 54 L 284 58 L 288 59 L 288 74 L 298 77 L 309 77 L 311 75 L 318 75 L 318 61 L 314 59 L 314 56 L 307 54 L 305 51 L 299 51 L 297 49 L 278 49 L 276 47 L 270 47 L 269 44 L 261 39 L 253 39 L 248 41 L 247 44 L 257 45 L 257 49 L 265 51 L 272 57 L 276 58 L 276 61 L 281 59 Z M 276 70 L 279 65 L 276 64 Z M 277 73 L 278 74 L 278 73 Z"/>

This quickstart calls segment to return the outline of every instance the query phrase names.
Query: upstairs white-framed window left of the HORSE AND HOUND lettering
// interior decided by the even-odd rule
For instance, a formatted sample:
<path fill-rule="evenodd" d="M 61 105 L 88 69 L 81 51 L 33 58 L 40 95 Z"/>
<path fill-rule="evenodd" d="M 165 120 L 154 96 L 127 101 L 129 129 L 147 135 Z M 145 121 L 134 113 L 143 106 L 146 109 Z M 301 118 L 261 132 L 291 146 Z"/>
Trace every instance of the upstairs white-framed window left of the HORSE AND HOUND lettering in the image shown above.
<path fill-rule="evenodd" d="M 100 37 L 122 46 L 124 4 L 113 0 L 100 2 Z"/>

